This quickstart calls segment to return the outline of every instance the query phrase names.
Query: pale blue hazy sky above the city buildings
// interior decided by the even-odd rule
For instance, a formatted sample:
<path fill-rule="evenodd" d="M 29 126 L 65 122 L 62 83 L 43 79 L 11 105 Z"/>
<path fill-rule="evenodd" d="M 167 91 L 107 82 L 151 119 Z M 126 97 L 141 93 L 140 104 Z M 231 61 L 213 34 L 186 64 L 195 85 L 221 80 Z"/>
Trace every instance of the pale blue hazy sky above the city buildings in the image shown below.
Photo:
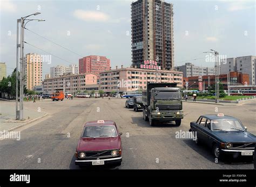
<path fill-rule="evenodd" d="M 50 67 L 78 65 L 78 59 L 88 55 L 106 56 L 112 68 L 129 67 L 131 2 L 0 0 L 0 62 L 11 74 L 16 67 L 17 19 L 41 12 L 30 18 L 45 21 L 26 25 L 30 31 L 25 30 L 24 54 L 51 55 L 51 63 L 43 62 L 43 78 Z M 256 55 L 254 0 L 165 2 L 173 3 L 174 66 L 191 62 L 213 67 L 204 53 L 210 49 L 224 57 Z"/>

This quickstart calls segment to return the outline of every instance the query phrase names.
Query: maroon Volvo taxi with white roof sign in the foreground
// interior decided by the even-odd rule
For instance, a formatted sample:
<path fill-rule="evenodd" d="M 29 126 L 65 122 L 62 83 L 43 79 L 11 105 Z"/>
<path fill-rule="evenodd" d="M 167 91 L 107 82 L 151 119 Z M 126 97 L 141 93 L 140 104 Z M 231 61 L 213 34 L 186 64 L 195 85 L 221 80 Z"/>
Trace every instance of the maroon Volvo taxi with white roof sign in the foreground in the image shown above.
<path fill-rule="evenodd" d="M 90 121 L 84 125 L 77 144 L 76 165 L 104 165 L 122 162 L 121 135 L 114 121 Z"/>

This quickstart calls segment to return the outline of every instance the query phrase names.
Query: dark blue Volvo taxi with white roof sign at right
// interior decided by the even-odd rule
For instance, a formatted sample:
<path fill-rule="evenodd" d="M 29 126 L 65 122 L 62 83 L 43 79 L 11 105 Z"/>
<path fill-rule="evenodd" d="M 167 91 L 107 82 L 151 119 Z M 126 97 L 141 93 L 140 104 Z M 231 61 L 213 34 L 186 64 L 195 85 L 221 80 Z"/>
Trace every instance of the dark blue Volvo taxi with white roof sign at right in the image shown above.
<path fill-rule="evenodd" d="M 221 159 L 224 154 L 253 156 L 256 136 L 247 132 L 241 121 L 224 114 L 203 115 L 190 123 L 190 131 L 196 133 L 196 144 L 205 143 L 213 155 Z"/>

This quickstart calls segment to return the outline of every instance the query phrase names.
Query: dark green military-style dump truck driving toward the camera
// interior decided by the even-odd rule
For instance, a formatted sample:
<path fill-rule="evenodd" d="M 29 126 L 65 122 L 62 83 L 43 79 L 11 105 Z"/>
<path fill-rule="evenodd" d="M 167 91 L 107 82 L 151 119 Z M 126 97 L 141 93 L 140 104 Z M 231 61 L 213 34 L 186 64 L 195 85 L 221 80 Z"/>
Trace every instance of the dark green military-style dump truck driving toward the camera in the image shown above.
<path fill-rule="evenodd" d="M 143 118 L 150 125 L 162 121 L 175 121 L 180 126 L 183 119 L 181 91 L 177 83 L 148 83 L 142 91 Z"/>

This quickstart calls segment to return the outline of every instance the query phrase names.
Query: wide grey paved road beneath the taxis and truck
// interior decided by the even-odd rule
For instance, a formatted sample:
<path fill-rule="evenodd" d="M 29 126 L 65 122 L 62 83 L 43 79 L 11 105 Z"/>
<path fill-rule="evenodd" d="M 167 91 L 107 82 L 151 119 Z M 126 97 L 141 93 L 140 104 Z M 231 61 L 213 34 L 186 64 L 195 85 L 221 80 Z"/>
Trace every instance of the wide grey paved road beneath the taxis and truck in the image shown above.
<path fill-rule="evenodd" d="M 252 169 L 253 163 L 227 160 L 214 163 L 211 150 L 196 146 L 193 140 L 176 139 L 187 131 L 190 121 L 200 114 L 225 113 L 239 118 L 248 131 L 256 134 L 256 103 L 220 106 L 184 103 L 185 118 L 180 127 L 165 124 L 149 126 L 142 112 L 126 109 L 125 99 L 73 99 L 63 102 L 25 103 L 25 107 L 49 115 L 18 128 L 21 140 L 0 141 L 1 169 L 79 169 L 74 153 L 85 121 L 114 120 L 123 132 L 122 166 L 111 169 Z M 217 111 L 218 110 L 218 111 Z"/>

